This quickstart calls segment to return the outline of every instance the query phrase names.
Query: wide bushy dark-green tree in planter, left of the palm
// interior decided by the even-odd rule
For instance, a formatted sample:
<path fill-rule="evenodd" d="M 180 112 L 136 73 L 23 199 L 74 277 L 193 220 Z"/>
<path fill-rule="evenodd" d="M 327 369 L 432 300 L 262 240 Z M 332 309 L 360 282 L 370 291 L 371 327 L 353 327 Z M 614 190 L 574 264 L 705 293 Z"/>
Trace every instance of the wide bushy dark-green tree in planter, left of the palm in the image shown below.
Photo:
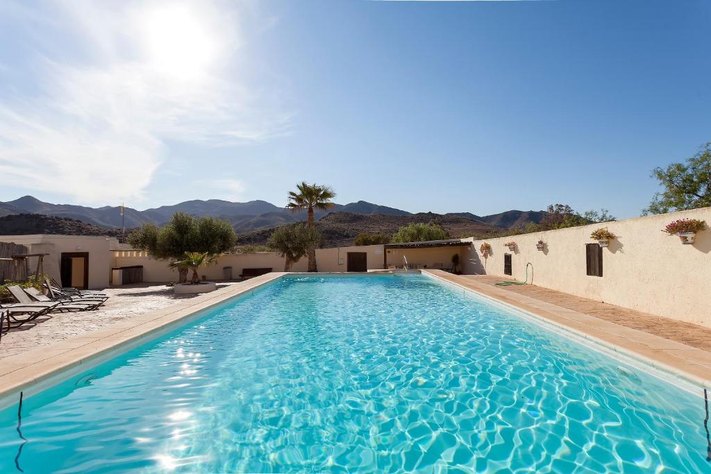
<path fill-rule="evenodd" d="M 213 255 L 228 252 L 234 247 L 237 235 L 232 226 L 214 217 L 195 217 L 186 212 L 176 212 L 163 227 L 144 224 L 127 236 L 127 242 L 135 249 L 148 250 L 151 257 L 178 262 L 185 259 L 186 252 Z M 188 269 L 178 267 L 178 283 L 188 279 Z"/>

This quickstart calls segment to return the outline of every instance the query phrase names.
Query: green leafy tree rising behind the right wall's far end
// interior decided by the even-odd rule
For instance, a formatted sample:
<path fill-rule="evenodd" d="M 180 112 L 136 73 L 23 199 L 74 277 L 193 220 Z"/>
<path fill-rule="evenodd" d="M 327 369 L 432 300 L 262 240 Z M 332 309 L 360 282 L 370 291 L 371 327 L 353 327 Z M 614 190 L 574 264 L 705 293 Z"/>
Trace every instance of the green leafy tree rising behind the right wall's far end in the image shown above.
<path fill-rule="evenodd" d="M 686 163 L 654 168 L 652 177 L 664 190 L 654 195 L 644 215 L 711 206 L 711 141 Z"/>

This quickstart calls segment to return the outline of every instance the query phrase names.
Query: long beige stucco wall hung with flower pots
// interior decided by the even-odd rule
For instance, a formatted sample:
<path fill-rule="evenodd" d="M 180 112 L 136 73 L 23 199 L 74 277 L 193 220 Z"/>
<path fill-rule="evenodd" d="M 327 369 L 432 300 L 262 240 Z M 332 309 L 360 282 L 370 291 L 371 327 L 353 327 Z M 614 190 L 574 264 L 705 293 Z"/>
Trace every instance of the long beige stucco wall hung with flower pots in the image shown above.
<path fill-rule="evenodd" d="M 711 208 L 606 222 L 569 229 L 474 241 L 465 273 L 503 276 L 503 244 L 518 244 L 512 253 L 513 277 L 523 281 L 527 262 L 533 265 L 533 284 L 625 308 L 711 327 L 711 230 L 699 232 L 694 245 L 661 232 L 684 217 L 711 225 Z M 603 276 L 585 273 L 585 245 L 590 232 L 607 227 L 618 236 L 603 252 Z M 539 252 L 535 243 L 546 242 Z M 469 239 L 472 240 L 472 239 Z M 479 246 L 493 252 L 481 259 Z"/>

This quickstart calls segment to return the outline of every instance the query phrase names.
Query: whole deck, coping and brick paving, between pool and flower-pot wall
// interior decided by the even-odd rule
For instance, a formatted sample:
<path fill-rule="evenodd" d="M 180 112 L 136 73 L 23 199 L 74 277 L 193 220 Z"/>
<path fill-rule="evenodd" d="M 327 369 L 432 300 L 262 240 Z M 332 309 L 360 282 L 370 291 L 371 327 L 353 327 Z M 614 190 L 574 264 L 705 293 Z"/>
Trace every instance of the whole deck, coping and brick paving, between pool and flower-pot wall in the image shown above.
<path fill-rule="evenodd" d="M 711 330 L 707 328 L 540 286 L 493 285 L 513 279 L 452 275 L 441 270 L 423 271 L 519 308 L 546 323 L 602 344 L 609 350 L 711 389 Z"/>

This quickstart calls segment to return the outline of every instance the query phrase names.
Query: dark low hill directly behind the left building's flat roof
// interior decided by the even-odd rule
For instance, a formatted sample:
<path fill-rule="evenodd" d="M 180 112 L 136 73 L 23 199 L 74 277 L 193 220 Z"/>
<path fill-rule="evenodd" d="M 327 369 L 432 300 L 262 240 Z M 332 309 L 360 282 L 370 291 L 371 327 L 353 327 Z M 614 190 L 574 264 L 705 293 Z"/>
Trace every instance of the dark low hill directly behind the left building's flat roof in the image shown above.
<path fill-rule="evenodd" d="M 41 214 L 12 214 L 0 217 L 0 235 L 106 235 L 120 237 L 121 231 L 87 224 L 69 217 Z"/>

